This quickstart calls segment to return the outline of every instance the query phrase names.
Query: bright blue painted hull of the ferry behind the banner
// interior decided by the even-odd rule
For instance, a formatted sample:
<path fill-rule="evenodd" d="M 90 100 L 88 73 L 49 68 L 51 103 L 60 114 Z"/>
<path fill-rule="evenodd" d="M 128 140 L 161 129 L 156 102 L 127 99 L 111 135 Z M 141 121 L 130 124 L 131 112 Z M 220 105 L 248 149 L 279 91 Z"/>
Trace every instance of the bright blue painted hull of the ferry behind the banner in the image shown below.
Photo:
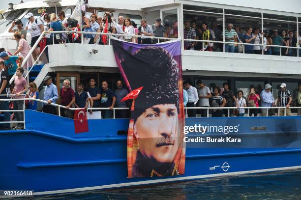
<path fill-rule="evenodd" d="M 187 118 L 186 125 L 240 124 L 250 146 L 266 148 L 187 146 L 184 175 L 131 179 L 126 135 L 118 135 L 127 130 L 127 119 L 89 120 L 89 132 L 80 134 L 72 119 L 28 110 L 26 120 L 26 130 L 0 132 L 0 190 L 42 195 L 301 168 L 299 116 Z"/>

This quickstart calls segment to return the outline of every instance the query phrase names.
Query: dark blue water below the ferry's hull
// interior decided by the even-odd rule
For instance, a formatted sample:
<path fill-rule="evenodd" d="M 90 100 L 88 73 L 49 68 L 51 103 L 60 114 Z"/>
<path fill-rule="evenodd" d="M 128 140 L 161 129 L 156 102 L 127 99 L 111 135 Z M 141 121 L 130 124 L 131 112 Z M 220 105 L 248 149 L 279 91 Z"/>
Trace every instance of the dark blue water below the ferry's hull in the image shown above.
<path fill-rule="evenodd" d="M 38 200 L 301 200 L 301 171 L 281 171 L 170 183 L 161 186 L 87 191 Z"/>

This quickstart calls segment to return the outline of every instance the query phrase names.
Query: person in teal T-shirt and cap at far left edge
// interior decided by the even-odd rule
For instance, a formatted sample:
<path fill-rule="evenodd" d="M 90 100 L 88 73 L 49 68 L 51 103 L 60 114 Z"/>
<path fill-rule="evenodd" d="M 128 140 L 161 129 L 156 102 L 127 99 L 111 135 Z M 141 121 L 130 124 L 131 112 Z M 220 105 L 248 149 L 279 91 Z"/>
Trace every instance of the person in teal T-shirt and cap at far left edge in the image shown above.
<path fill-rule="evenodd" d="M 8 56 L 6 52 L 1 52 L 0 57 L 4 60 L 4 65 L 8 70 L 8 80 L 10 80 L 18 68 L 16 61 L 19 61 L 19 67 L 21 67 L 24 58 L 21 56 Z"/>

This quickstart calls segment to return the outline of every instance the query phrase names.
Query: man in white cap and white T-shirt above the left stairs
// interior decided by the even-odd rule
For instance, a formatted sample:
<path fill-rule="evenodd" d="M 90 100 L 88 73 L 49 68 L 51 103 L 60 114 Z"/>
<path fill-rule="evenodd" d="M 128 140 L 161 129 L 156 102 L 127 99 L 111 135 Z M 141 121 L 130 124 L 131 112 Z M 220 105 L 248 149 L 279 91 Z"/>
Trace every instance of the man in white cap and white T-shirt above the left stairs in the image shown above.
<path fill-rule="evenodd" d="M 42 32 L 44 31 L 44 26 L 41 20 L 34 19 L 33 14 L 31 12 L 27 13 L 24 18 L 28 19 L 25 29 L 30 31 L 31 41 L 30 47 L 36 43 Z M 39 47 L 39 45 L 37 45 Z M 37 47 L 34 49 L 32 57 L 34 60 L 39 56 L 39 51 Z"/>

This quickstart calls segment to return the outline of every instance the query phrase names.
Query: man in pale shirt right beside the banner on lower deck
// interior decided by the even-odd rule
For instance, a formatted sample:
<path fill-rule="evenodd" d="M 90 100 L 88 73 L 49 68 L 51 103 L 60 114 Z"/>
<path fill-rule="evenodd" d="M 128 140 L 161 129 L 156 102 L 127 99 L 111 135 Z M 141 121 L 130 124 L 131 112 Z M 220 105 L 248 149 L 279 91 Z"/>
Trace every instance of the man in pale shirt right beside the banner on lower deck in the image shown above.
<path fill-rule="evenodd" d="M 199 100 L 198 90 L 194 86 L 191 86 L 191 84 L 188 81 L 184 81 L 183 85 L 188 94 L 188 103 L 186 104 L 186 107 L 195 107 Z M 187 111 L 187 114 L 188 117 L 195 117 L 196 110 L 189 109 Z"/>

